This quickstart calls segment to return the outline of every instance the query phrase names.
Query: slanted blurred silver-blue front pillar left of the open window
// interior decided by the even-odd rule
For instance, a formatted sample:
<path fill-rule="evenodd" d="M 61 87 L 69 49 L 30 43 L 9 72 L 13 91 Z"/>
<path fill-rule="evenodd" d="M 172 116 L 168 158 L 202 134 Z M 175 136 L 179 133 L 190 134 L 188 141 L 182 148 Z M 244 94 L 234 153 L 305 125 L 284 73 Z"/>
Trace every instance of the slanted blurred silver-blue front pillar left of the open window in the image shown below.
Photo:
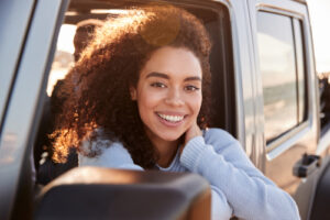
<path fill-rule="evenodd" d="M 3 220 L 12 218 L 19 188 L 25 184 L 22 170 L 33 160 L 33 142 L 43 109 L 41 91 L 45 90 L 67 6 L 67 0 L 37 0 L 30 15 L 0 138 L 0 219 Z"/>

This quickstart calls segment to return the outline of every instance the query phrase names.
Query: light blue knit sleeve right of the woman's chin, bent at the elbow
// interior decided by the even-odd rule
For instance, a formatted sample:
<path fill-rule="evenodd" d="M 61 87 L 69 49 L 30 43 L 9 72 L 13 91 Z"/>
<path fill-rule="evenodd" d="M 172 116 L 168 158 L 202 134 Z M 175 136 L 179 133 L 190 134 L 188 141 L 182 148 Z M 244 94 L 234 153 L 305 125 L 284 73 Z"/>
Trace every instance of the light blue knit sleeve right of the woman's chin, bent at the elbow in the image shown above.
<path fill-rule="evenodd" d="M 205 138 L 190 140 L 180 163 L 222 193 L 238 218 L 299 219 L 293 198 L 267 179 L 251 163 L 239 142 L 222 130 L 211 129 Z"/>

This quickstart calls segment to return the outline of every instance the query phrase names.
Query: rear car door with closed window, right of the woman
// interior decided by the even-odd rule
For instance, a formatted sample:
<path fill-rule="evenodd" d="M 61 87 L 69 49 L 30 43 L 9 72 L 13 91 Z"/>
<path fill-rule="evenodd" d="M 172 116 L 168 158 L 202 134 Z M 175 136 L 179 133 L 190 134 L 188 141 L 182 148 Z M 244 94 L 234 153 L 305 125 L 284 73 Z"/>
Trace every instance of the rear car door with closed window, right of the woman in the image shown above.
<path fill-rule="evenodd" d="M 307 6 L 304 1 L 248 2 L 265 175 L 296 198 L 305 219 L 312 184 L 304 182 L 308 187 L 301 204 L 301 195 L 296 194 L 301 178 L 293 169 L 305 153 L 316 154 L 318 142 L 317 79 Z M 315 179 L 316 174 L 307 179 Z"/>

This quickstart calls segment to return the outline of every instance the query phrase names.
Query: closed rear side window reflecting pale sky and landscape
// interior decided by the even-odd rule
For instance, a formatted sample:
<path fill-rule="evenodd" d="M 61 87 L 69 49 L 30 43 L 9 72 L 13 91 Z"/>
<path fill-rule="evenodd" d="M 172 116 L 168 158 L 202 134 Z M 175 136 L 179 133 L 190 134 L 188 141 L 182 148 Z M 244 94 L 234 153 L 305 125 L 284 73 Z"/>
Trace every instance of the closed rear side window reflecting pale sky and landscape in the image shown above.
<path fill-rule="evenodd" d="M 298 127 L 306 118 L 302 42 L 299 20 L 271 12 L 257 13 L 267 143 Z"/>

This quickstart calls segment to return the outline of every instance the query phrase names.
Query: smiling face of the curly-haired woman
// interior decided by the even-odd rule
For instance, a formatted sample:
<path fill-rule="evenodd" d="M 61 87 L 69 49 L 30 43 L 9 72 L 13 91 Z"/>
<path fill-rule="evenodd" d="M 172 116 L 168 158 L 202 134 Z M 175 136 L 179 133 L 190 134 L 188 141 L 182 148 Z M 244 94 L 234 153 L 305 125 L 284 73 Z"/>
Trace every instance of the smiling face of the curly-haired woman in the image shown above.
<path fill-rule="evenodd" d="M 197 123 L 201 106 L 202 72 L 199 59 L 186 48 L 155 51 L 140 73 L 131 97 L 153 143 L 177 141 Z"/>

